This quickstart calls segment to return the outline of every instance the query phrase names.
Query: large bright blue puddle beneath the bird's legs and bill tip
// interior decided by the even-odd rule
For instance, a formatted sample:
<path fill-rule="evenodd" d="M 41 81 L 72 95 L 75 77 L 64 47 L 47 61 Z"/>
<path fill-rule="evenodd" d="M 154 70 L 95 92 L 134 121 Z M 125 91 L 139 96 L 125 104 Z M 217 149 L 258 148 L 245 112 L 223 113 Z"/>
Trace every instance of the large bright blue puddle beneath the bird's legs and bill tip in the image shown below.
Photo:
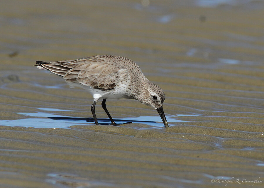
<path fill-rule="evenodd" d="M 45 111 L 71 111 L 71 110 L 60 110 L 57 108 L 37 108 Z M 18 113 L 21 115 L 26 115 L 28 118 L 18 119 L 18 120 L 2 120 L 0 125 L 5 126 L 23 126 L 23 127 L 35 127 L 35 128 L 68 128 L 72 125 L 88 125 L 94 124 L 93 118 L 77 118 L 71 116 L 57 115 L 53 113 L 46 112 L 26 112 Z M 184 115 L 179 114 L 177 116 L 166 116 L 167 121 L 170 123 L 176 122 L 186 122 L 184 120 L 177 120 L 180 116 L 196 116 L 196 115 Z M 98 118 L 98 123 L 100 125 L 111 124 L 108 118 Z M 140 116 L 131 118 L 114 119 L 116 123 L 143 123 L 155 127 L 163 127 L 163 123 L 159 116 Z M 171 126 L 171 125 L 170 125 Z"/>

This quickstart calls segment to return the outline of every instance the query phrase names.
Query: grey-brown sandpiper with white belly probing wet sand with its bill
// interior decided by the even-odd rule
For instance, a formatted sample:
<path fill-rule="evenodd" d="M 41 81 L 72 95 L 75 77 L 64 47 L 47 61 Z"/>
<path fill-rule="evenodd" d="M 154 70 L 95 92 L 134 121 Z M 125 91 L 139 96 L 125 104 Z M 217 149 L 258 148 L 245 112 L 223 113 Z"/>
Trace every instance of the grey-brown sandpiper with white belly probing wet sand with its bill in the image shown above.
<path fill-rule="evenodd" d="M 87 89 L 94 98 L 91 111 L 96 125 L 98 121 L 95 104 L 98 99 L 103 98 L 104 111 L 111 124 L 117 125 L 106 109 L 105 102 L 106 99 L 126 98 L 136 99 L 155 108 L 165 127 L 169 127 L 162 107 L 165 100 L 164 92 L 158 85 L 150 82 L 139 66 L 128 58 L 99 55 L 50 63 L 37 61 L 35 66 L 61 76 L 72 87 Z"/>

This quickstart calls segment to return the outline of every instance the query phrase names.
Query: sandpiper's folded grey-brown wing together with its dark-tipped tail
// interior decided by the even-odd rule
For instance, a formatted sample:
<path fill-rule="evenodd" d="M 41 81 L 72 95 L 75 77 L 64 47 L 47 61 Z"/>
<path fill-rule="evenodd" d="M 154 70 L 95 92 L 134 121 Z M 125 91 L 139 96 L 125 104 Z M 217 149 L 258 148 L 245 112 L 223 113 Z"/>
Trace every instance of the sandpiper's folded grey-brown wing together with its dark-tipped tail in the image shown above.
<path fill-rule="evenodd" d="M 36 66 L 62 76 L 68 83 L 79 83 L 99 90 L 113 89 L 120 73 L 125 71 L 116 63 L 97 57 L 50 63 L 37 61 Z"/>

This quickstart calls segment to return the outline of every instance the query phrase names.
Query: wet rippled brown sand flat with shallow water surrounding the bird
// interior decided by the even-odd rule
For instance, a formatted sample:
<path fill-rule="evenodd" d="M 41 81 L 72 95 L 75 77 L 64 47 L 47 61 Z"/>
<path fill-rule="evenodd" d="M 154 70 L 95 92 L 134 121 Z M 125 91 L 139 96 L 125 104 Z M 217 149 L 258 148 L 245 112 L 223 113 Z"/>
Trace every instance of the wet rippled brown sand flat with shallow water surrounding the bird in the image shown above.
<path fill-rule="evenodd" d="M 263 187 L 263 8 L 1 1 L 0 187 Z M 89 93 L 33 66 L 99 54 L 160 85 L 169 128 L 129 99 L 106 101 L 120 127 L 100 104 L 94 125 Z"/>

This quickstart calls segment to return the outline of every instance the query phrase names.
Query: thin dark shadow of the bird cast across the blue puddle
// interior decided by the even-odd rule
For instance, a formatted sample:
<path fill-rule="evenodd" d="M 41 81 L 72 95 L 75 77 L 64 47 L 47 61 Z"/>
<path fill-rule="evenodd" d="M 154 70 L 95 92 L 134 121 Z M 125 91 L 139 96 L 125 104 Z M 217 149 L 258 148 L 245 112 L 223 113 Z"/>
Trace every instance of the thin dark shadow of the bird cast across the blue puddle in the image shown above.
<path fill-rule="evenodd" d="M 91 122 L 94 123 L 94 118 L 73 118 L 73 117 L 48 117 L 50 119 L 53 120 L 69 120 L 69 121 L 81 121 L 81 120 L 85 120 L 86 122 Z M 100 125 L 109 125 L 111 124 L 111 121 L 107 118 L 101 118 L 101 119 L 97 119 L 100 122 Z M 118 123 L 122 123 L 122 124 L 126 124 L 126 123 L 155 123 L 155 121 L 144 121 L 144 120 L 133 120 L 133 121 L 129 121 L 129 120 L 121 120 L 121 119 L 114 119 L 115 122 Z M 102 123 L 103 122 L 103 123 Z M 105 122 L 105 123 L 104 123 Z"/>

